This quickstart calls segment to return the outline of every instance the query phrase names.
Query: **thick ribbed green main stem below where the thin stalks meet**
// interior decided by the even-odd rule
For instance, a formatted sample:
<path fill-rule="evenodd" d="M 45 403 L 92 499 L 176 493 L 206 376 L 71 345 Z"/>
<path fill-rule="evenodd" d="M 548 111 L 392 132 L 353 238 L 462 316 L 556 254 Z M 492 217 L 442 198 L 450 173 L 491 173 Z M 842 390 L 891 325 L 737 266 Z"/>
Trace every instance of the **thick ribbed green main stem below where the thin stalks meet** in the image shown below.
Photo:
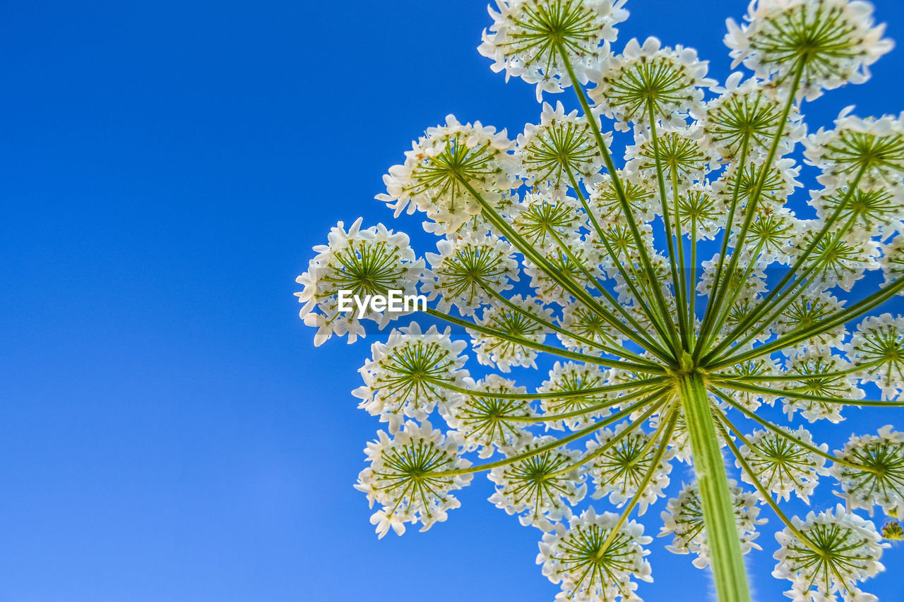
<path fill-rule="evenodd" d="M 687 360 L 690 360 L 689 356 Z M 685 373 L 678 382 L 691 438 L 716 593 L 720 602 L 750 602 L 734 503 L 706 383 L 697 372 Z"/>

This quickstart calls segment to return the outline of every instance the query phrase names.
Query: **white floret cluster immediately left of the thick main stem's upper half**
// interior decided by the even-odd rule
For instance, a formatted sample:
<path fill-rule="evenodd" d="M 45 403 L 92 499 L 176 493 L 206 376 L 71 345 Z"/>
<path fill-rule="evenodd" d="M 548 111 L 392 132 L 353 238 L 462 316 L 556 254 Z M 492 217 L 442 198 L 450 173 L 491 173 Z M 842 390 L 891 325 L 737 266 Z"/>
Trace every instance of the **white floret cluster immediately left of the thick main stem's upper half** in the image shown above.
<path fill-rule="evenodd" d="M 626 427 L 627 423 L 623 422 L 614 431 L 603 429 L 596 440 L 590 439 L 587 443 L 587 453 L 593 456 L 588 472 L 597 486 L 593 498 L 608 495 L 609 502 L 621 507 L 634 497 L 645 476 L 652 470 L 653 475 L 637 503 L 639 513 L 643 514 L 649 504 L 664 496 L 663 490 L 668 486 L 668 475 L 672 472 L 669 460 L 673 457 L 673 451 L 666 450 L 659 463 L 653 466 L 659 446 L 639 428 L 622 435 Z M 609 444 L 619 435 L 622 437 L 617 443 Z M 599 453 L 598 450 L 603 447 L 607 449 Z"/>

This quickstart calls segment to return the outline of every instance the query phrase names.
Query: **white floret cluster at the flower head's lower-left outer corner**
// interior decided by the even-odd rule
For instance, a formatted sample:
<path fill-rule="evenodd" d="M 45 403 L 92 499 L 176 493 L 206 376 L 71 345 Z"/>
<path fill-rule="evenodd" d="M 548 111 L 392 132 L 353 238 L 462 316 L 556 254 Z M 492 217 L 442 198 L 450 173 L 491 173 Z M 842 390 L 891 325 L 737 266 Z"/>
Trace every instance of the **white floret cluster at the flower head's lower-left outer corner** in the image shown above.
<path fill-rule="evenodd" d="M 458 456 L 456 435 L 444 437 L 429 422 L 419 426 L 409 420 L 395 437 L 381 430 L 377 437 L 364 449 L 371 464 L 354 487 L 367 494 L 371 507 L 381 504 L 371 516 L 380 537 L 390 528 L 401 535 L 406 522 L 420 522 L 421 531 L 427 531 L 434 522 L 445 521 L 447 510 L 460 505 L 449 492 L 466 486 L 473 476 L 441 474 L 471 466 Z"/>

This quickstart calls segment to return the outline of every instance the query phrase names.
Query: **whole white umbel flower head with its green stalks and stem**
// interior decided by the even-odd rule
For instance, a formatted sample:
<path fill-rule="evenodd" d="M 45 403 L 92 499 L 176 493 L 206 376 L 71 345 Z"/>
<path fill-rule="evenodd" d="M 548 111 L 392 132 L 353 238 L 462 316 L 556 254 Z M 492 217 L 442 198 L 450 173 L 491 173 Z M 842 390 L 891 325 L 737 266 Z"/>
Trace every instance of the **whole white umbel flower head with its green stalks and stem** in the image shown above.
<path fill-rule="evenodd" d="M 904 294 L 904 114 L 844 108 L 807 135 L 804 111 L 892 44 L 860 0 L 755 0 L 725 38 L 752 72 L 720 85 L 692 48 L 617 49 L 625 4 L 497 0 L 479 48 L 493 70 L 577 108 L 543 102 L 514 139 L 429 127 L 377 195 L 426 219 L 424 259 L 361 220 L 315 247 L 298 278 L 315 344 L 402 316 L 346 315 L 340 289 L 430 302 L 361 368 L 354 395 L 388 424 L 356 486 L 383 536 L 447 520 L 487 475 L 490 501 L 542 532 L 557 600 L 640 600 L 653 538 L 635 517 L 657 504 L 667 549 L 710 568 L 720 602 L 749 602 L 743 555 L 768 547 L 769 517 L 788 597 L 873 600 L 862 582 L 900 539 L 904 434 L 831 451 L 816 428 L 904 406 L 904 317 L 886 311 Z M 786 514 L 819 484 L 844 504 Z"/>

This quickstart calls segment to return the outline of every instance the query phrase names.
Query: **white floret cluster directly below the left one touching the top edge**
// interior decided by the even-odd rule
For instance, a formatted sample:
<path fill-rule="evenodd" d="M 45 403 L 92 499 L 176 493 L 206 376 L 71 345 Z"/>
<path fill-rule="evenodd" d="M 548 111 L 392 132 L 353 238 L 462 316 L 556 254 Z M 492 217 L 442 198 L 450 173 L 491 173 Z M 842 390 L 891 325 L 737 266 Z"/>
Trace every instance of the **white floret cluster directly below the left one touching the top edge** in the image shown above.
<path fill-rule="evenodd" d="M 598 119 L 594 123 L 598 124 Z M 611 134 L 604 135 L 607 146 L 611 140 Z M 585 185 L 597 182 L 603 166 L 593 128 L 587 119 L 578 116 L 577 109 L 566 115 L 561 102 L 556 102 L 555 110 L 543 103 L 540 124 L 524 126 L 515 155 L 521 163 L 524 183 L 558 195 L 580 181 Z"/>

